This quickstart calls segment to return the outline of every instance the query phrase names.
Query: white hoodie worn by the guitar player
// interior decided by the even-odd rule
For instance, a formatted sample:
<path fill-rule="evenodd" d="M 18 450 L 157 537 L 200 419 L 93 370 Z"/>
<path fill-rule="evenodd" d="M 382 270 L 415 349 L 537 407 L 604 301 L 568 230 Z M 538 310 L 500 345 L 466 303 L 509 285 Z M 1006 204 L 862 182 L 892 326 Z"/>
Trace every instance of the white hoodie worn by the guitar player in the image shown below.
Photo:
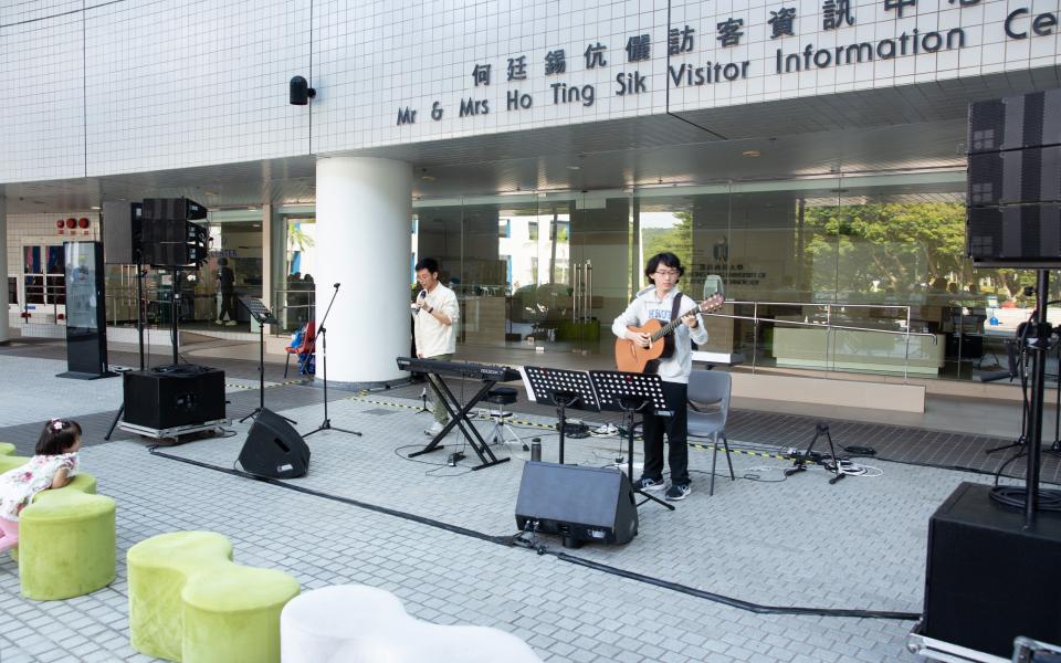
<path fill-rule="evenodd" d="M 663 324 L 671 322 L 671 311 L 674 308 L 675 295 L 683 297 L 679 308 L 679 317 L 682 317 L 697 308 L 696 302 L 691 297 L 682 295 L 677 286 L 671 288 L 663 299 L 655 296 L 655 286 L 650 286 L 633 298 L 630 306 L 616 318 L 611 324 L 611 333 L 618 338 L 626 338 L 627 327 L 640 327 L 652 318 Z M 674 354 L 666 359 L 660 359 L 660 368 L 656 371 L 664 382 L 689 383 L 689 373 L 693 370 L 693 358 L 690 354 L 692 345 L 707 343 L 707 330 L 704 329 L 704 320 L 700 318 L 700 325 L 695 329 L 690 329 L 689 325 L 679 325 L 673 332 Z"/>

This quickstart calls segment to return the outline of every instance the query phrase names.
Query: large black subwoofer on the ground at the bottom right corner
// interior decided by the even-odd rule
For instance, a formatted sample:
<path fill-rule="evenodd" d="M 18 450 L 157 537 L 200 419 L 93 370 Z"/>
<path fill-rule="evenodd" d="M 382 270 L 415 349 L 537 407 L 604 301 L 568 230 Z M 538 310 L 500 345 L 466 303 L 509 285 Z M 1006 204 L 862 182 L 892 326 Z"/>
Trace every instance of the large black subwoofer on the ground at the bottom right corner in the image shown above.
<path fill-rule="evenodd" d="M 928 523 L 922 631 L 1009 660 L 1013 638 L 1061 642 L 1061 514 L 1023 512 L 963 483 Z"/>

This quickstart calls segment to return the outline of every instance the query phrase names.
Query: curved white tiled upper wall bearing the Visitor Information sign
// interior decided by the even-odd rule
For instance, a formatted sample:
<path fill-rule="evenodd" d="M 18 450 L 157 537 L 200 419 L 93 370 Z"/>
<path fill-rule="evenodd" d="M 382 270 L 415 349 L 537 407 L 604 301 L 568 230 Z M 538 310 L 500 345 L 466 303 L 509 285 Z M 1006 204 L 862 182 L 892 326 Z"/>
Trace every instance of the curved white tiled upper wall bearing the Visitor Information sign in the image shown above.
<path fill-rule="evenodd" d="M 965 0 L 966 2 L 973 0 Z M 103 176 L 440 140 L 608 119 L 887 88 L 994 72 L 1054 72 L 1061 30 L 1018 40 L 1004 24 L 1028 8 L 1059 13 L 1057 0 L 916 0 L 904 15 L 884 0 L 850 0 L 854 23 L 824 30 L 823 0 L 124 0 L 85 3 L 0 0 L 0 181 Z M 775 38 L 771 12 L 795 10 L 792 34 Z M 70 13 L 66 13 L 70 12 Z M 694 30 L 693 48 L 668 62 L 668 20 Z M 742 21 L 736 44 L 718 24 Z M 807 65 L 802 53 L 960 29 L 962 49 L 863 62 Z M 84 40 L 82 35 L 84 34 Z M 649 36 L 649 59 L 626 46 Z M 589 44 L 607 65 L 589 69 Z M 567 71 L 546 75 L 563 49 Z M 797 55 L 798 71 L 782 70 Z M 508 81 L 508 59 L 526 57 L 525 81 Z M 836 55 L 832 56 L 833 59 Z M 702 85 L 669 84 L 670 67 L 733 64 L 739 75 Z M 746 64 L 745 64 L 746 63 Z M 476 64 L 491 67 L 476 86 Z M 1049 67 L 1049 69 L 1043 69 Z M 637 72 L 643 91 L 617 94 Z M 291 76 L 318 96 L 287 104 Z M 1042 85 L 1041 76 L 1034 78 Z M 554 103 L 551 85 L 590 86 L 591 105 Z M 670 85 L 670 90 L 669 90 Z M 506 108 L 507 93 L 530 106 Z M 461 102 L 480 113 L 460 116 Z M 432 119 L 439 104 L 443 115 Z M 483 113 L 483 103 L 489 112 Z M 399 124 L 399 110 L 416 122 Z M 893 109 L 905 120 L 917 109 Z M 778 118 L 787 126 L 795 118 Z M 311 126 L 312 120 L 312 126 Z M 865 122 L 889 118 L 865 114 Z M 87 146 L 87 148 L 86 148 Z M 87 149 L 87 154 L 86 154 Z M 498 155 L 504 156 L 504 155 Z"/>

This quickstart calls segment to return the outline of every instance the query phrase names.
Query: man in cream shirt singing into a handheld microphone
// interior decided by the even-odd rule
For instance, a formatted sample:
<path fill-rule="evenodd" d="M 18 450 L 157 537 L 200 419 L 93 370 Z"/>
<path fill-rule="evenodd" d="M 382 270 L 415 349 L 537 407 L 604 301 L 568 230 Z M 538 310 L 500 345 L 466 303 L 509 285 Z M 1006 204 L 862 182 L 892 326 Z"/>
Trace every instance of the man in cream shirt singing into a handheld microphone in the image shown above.
<path fill-rule="evenodd" d="M 417 295 L 413 308 L 413 330 L 417 336 L 417 357 L 421 359 L 453 358 L 456 351 L 456 320 L 461 309 L 453 291 L 439 283 L 439 262 L 426 257 L 417 263 L 417 283 L 423 290 Z M 429 376 L 434 381 L 439 378 Z M 424 435 L 438 435 L 450 421 L 445 406 L 431 397 L 434 409 L 434 423 L 423 431 Z"/>

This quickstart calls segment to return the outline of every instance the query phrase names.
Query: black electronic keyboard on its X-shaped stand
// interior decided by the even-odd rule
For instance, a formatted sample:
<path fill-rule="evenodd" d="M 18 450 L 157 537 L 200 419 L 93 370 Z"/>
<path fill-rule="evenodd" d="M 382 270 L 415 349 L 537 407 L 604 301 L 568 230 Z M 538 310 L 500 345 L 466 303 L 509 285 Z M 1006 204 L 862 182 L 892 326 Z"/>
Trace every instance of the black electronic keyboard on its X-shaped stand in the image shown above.
<path fill-rule="evenodd" d="M 475 455 L 482 461 L 481 464 L 475 465 L 472 470 L 482 470 L 483 467 L 508 462 L 510 459 L 507 457 L 498 459 L 494 455 L 494 451 L 490 448 L 490 444 L 483 440 L 483 436 L 479 434 L 479 430 L 475 428 L 475 424 L 472 423 L 472 420 L 469 419 L 468 413 L 472 411 L 475 404 L 481 401 L 497 382 L 518 380 L 518 372 L 506 366 L 464 364 L 461 361 L 442 361 L 414 357 L 398 357 L 398 368 L 401 370 L 430 373 L 439 378 L 437 380 L 429 379 L 428 382 L 431 385 L 431 388 L 434 389 L 435 394 L 438 394 L 438 402 L 450 413 L 450 422 L 445 424 L 442 431 L 435 435 L 427 446 L 420 451 L 410 453 L 409 457 L 416 457 L 441 449 L 443 446 L 442 441 L 450 434 L 450 431 L 453 430 L 455 425 L 460 427 L 468 443 L 475 451 Z M 470 401 L 462 404 L 445 382 L 442 381 L 442 376 L 479 379 L 483 381 L 483 386 L 475 392 L 475 396 L 473 396 Z"/>

